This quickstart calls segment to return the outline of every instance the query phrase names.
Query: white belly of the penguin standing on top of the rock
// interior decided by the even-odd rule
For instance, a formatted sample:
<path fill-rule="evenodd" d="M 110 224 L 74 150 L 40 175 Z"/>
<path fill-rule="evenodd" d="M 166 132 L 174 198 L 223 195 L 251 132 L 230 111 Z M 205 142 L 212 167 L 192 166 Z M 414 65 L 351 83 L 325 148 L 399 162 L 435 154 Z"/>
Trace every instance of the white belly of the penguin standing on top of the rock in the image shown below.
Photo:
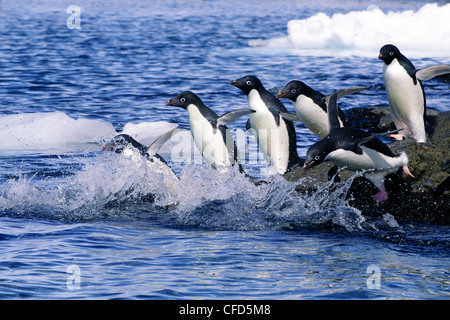
<path fill-rule="evenodd" d="M 414 84 L 397 59 L 383 66 L 383 77 L 392 119 L 400 134 L 425 142 L 424 96 L 419 81 Z"/>

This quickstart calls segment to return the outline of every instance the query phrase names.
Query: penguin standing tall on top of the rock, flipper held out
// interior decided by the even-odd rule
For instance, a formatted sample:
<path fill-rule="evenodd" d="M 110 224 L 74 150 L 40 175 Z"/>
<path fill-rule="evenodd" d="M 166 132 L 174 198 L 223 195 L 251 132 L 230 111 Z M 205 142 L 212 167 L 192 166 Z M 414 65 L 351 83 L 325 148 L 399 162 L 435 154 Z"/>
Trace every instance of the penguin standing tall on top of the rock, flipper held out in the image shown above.
<path fill-rule="evenodd" d="M 392 44 L 380 49 L 378 59 L 384 62 L 383 78 L 392 119 L 397 129 L 403 129 L 401 134 L 393 137 L 426 142 L 426 100 L 421 80 L 450 73 L 450 65 L 439 64 L 418 70 Z"/>

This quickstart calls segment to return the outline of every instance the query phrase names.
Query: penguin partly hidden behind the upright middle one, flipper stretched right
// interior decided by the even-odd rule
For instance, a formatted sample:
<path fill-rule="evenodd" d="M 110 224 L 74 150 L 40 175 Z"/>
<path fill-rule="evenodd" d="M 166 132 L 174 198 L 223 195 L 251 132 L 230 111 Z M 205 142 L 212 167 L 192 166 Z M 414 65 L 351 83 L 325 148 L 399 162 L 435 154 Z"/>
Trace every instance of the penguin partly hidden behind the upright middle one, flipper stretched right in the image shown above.
<path fill-rule="evenodd" d="M 337 98 L 352 94 L 369 87 L 343 89 L 337 92 Z M 325 138 L 330 132 L 328 124 L 326 95 L 314 90 L 302 81 L 292 80 L 276 95 L 278 99 L 286 98 L 294 102 L 296 114 L 282 113 L 281 116 L 291 121 L 301 121 L 309 130 L 319 138 Z M 347 117 L 338 108 L 339 122 L 341 126 L 347 126 Z"/>

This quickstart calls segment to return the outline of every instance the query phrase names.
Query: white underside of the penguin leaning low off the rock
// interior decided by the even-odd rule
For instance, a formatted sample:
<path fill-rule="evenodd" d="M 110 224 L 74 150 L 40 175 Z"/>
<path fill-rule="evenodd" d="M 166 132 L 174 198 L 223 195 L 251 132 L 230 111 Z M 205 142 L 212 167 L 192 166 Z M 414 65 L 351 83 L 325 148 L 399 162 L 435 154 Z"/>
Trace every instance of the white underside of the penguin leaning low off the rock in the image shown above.
<path fill-rule="evenodd" d="M 405 152 L 397 157 L 389 157 L 364 146 L 361 146 L 361 150 L 363 151 L 362 154 L 357 154 L 352 151 L 337 149 L 330 152 L 326 159 L 331 160 L 338 167 L 346 167 L 351 171 L 369 170 L 364 175 L 377 187 L 380 187 L 384 176 L 408 164 L 408 156 Z"/>

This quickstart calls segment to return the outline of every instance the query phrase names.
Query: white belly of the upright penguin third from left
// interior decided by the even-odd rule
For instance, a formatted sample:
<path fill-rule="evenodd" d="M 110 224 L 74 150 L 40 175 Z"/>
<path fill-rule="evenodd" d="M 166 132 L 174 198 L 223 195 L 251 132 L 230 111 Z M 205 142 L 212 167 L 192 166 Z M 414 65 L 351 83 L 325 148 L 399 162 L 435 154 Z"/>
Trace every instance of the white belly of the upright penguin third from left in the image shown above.
<path fill-rule="evenodd" d="M 250 124 L 255 129 L 258 146 L 266 160 L 284 174 L 289 162 L 289 134 L 286 123 L 280 117 L 280 125 L 267 109 L 257 90 L 250 91 L 248 104 L 256 112 L 249 115 Z"/>

